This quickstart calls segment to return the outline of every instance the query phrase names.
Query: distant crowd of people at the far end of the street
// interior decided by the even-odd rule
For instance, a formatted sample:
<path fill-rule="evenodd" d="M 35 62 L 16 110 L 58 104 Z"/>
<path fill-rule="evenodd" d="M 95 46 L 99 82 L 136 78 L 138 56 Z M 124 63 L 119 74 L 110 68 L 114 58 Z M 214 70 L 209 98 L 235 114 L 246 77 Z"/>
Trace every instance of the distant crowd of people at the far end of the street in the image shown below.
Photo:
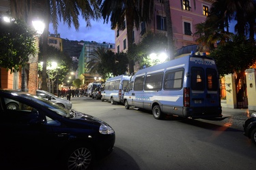
<path fill-rule="evenodd" d="M 83 97 L 85 95 L 87 89 L 84 88 L 68 88 L 66 90 L 65 88 L 62 88 L 59 90 L 59 97 L 67 97 L 67 99 L 70 101 L 71 97 Z"/>

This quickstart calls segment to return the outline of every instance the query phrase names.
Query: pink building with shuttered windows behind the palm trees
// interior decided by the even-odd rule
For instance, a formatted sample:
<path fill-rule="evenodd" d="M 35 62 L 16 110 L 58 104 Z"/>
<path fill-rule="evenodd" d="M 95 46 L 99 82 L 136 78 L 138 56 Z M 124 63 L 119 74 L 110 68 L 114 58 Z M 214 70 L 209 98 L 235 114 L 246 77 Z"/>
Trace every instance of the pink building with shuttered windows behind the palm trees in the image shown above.
<path fill-rule="evenodd" d="M 171 20 L 173 25 L 173 39 L 175 48 L 196 44 L 193 36 L 195 24 L 205 21 L 214 0 L 170 0 Z M 128 49 L 127 33 L 115 30 L 115 52 L 126 52 Z M 139 30 L 134 29 L 134 42 L 141 41 L 141 35 L 147 31 L 153 33 L 162 32 L 167 34 L 166 15 L 162 0 L 155 0 L 154 18 L 150 25 L 141 23 Z"/>

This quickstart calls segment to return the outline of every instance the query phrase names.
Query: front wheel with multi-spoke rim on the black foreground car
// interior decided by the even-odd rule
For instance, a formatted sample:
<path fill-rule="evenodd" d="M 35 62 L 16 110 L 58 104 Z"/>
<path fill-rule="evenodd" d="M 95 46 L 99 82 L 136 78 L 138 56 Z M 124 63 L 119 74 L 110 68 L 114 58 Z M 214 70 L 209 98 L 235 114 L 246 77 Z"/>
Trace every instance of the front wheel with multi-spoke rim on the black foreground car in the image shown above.
<path fill-rule="evenodd" d="M 64 157 L 65 169 L 90 169 L 94 161 L 94 150 L 90 146 L 72 147 Z"/>

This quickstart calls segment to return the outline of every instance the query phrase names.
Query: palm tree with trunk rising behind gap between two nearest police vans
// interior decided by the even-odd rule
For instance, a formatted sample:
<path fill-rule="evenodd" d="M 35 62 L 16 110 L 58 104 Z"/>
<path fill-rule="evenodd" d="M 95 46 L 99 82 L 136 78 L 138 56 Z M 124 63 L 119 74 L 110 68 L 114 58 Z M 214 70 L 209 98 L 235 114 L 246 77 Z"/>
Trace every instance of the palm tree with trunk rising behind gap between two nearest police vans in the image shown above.
<path fill-rule="evenodd" d="M 150 23 L 154 12 L 154 0 L 98 0 L 104 22 L 111 21 L 111 29 L 124 30 L 127 25 L 129 72 L 134 72 L 134 58 L 130 54 L 132 47 L 132 31 L 139 29 L 142 21 Z M 126 22 L 126 23 L 125 23 Z"/>

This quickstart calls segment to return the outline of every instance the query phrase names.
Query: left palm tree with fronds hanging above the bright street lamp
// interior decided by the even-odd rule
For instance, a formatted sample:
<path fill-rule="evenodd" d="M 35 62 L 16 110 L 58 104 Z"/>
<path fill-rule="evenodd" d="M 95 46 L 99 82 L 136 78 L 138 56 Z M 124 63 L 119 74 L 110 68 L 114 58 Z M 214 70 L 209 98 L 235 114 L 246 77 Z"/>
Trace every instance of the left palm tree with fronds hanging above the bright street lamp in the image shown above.
<path fill-rule="evenodd" d="M 48 44 L 48 25 L 53 23 L 55 33 L 57 33 L 58 22 L 62 21 L 71 27 L 74 25 L 76 31 L 79 30 L 79 15 L 87 22 L 89 27 L 90 20 L 97 20 L 100 18 L 100 10 L 97 0 L 10 0 L 10 7 L 12 15 L 16 18 L 24 18 L 31 21 L 31 18 L 44 18 L 46 28 L 44 29 L 43 37 L 43 62 L 47 61 L 47 44 Z M 46 65 L 42 68 L 42 79 L 46 80 Z M 47 89 L 46 81 L 42 82 L 42 89 Z"/>

